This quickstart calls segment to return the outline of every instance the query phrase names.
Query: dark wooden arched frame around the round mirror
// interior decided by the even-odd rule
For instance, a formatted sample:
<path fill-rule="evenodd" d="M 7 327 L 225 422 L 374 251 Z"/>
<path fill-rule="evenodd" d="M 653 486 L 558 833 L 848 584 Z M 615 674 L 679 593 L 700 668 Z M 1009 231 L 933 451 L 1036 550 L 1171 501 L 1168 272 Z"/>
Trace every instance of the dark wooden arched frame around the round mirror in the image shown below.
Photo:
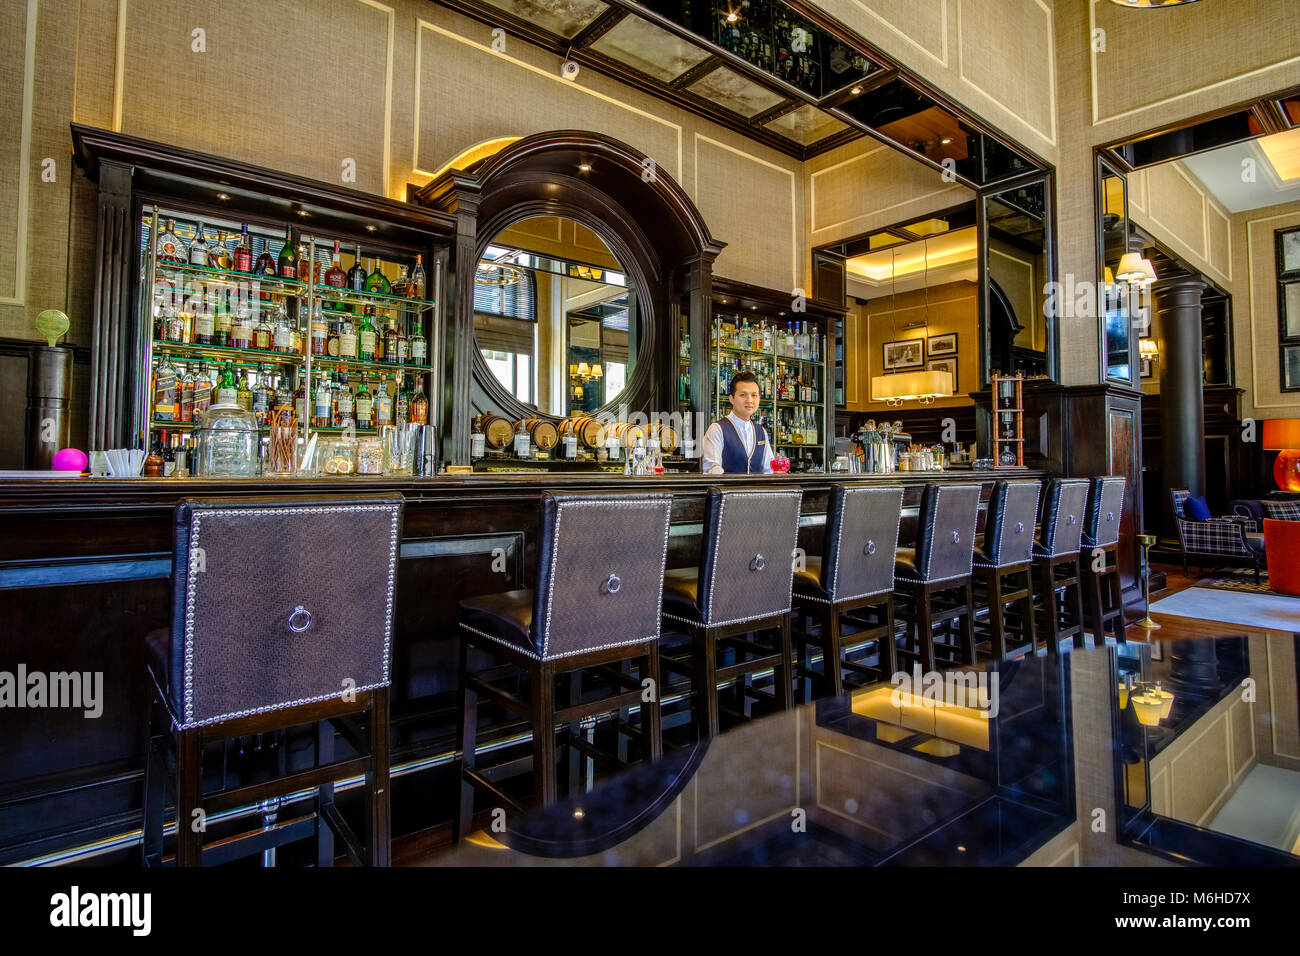
<path fill-rule="evenodd" d="M 582 169 L 581 166 L 586 166 Z M 706 328 L 712 261 L 724 243 L 677 182 L 638 150 L 584 130 L 519 139 L 468 169 L 448 169 L 415 193 L 416 202 L 456 217 L 448 277 L 441 398 L 443 460 L 468 463 L 469 419 L 493 411 L 508 419 L 560 416 L 510 394 L 474 342 L 474 269 L 489 242 L 507 226 L 537 216 L 571 219 L 595 233 L 619 260 L 646 321 L 627 386 L 602 411 L 676 408 L 676 328 L 682 297 L 690 300 L 692 341 Z M 698 346 L 697 346 L 698 347 Z"/>

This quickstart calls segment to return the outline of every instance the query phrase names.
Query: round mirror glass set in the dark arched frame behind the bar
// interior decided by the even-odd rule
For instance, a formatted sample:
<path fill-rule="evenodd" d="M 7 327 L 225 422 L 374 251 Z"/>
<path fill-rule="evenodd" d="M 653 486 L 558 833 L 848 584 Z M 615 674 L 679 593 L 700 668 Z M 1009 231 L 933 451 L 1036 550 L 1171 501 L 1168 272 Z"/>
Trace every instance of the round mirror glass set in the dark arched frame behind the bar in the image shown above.
<path fill-rule="evenodd" d="M 568 416 L 615 402 L 638 360 L 637 289 L 580 222 L 537 216 L 497 233 L 474 272 L 474 341 L 500 386 Z"/>

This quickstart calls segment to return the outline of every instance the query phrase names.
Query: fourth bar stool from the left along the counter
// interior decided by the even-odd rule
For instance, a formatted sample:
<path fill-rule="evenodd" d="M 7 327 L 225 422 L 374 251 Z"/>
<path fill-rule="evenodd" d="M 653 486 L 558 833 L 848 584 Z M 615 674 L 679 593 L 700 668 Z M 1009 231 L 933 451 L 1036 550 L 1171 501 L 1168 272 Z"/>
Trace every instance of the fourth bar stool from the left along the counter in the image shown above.
<path fill-rule="evenodd" d="M 809 557 L 805 568 L 794 571 L 794 605 L 803 622 L 811 617 L 819 624 L 816 635 L 809 633 L 806 624 L 796 633 L 805 701 L 814 679 L 826 696 L 838 697 L 844 693 L 844 671 L 889 680 L 898 670 L 893 576 L 901 516 L 901 485 L 831 485 L 822 555 Z M 875 618 L 850 611 L 874 613 Z M 844 620 L 861 630 L 845 635 Z M 810 644 L 822 649 L 820 671 L 811 667 Z M 870 648 L 878 656 L 875 667 L 850 659 Z"/>

